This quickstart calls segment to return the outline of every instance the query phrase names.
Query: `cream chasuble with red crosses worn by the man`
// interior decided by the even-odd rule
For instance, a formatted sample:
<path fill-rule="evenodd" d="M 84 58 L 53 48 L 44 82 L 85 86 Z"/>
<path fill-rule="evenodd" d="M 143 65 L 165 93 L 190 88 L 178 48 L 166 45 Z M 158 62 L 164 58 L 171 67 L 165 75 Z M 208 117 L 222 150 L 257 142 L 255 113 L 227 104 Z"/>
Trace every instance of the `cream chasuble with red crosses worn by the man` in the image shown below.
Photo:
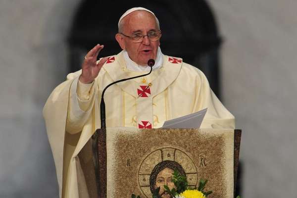
<path fill-rule="evenodd" d="M 120 52 L 108 58 L 86 98 L 76 95 L 81 70 L 69 74 L 67 81 L 51 93 L 43 113 L 60 197 L 62 190 L 63 198 L 79 197 L 76 156 L 100 127 L 99 103 L 104 87 L 145 73 L 127 70 Z M 213 94 L 204 74 L 181 58 L 163 55 L 160 68 L 143 78 L 111 86 L 104 101 L 107 127 L 158 128 L 165 120 L 208 108 L 201 128 L 235 128 L 234 116 Z"/>

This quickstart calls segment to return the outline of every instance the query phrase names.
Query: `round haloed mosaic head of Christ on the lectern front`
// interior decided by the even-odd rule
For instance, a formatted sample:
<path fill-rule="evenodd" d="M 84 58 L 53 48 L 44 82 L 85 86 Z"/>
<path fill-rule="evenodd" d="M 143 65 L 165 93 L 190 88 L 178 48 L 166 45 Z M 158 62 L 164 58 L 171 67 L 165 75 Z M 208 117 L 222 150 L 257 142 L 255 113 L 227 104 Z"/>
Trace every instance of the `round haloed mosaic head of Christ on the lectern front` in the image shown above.
<path fill-rule="evenodd" d="M 160 188 L 161 198 L 170 198 L 164 185 L 176 188 L 172 181 L 173 172 L 186 176 L 189 186 L 197 185 L 197 169 L 192 159 L 177 148 L 157 149 L 144 159 L 139 170 L 139 185 L 147 198 L 151 198 L 155 189 Z"/>

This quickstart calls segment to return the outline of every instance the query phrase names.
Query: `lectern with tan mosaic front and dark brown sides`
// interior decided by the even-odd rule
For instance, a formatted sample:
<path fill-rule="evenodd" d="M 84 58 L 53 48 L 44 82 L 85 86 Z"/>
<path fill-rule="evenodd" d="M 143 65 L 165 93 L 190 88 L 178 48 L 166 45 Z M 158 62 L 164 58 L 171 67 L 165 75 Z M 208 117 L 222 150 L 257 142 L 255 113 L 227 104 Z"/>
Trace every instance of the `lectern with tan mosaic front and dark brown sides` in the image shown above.
<path fill-rule="evenodd" d="M 207 179 L 211 198 L 232 198 L 240 141 L 234 129 L 99 129 L 77 156 L 79 196 L 151 198 L 157 174 L 170 168 L 192 187 Z"/>

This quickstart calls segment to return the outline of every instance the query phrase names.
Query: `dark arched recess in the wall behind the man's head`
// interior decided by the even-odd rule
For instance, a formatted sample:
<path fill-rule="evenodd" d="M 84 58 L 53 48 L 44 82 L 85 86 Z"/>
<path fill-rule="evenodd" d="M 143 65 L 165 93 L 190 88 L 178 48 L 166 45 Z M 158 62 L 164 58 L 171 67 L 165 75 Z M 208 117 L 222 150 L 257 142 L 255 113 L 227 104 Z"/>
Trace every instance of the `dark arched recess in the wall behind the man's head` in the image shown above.
<path fill-rule="evenodd" d="M 81 68 L 83 53 L 103 44 L 99 56 L 110 56 L 121 49 L 115 41 L 118 20 L 138 0 L 85 0 L 75 15 L 69 33 L 70 71 Z M 204 0 L 150 0 L 141 6 L 152 10 L 160 22 L 161 50 L 166 55 L 181 57 L 198 67 L 208 78 L 214 93 L 220 96 L 219 49 L 221 37 L 211 8 Z M 98 11 L 100 9 L 100 12 Z"/>

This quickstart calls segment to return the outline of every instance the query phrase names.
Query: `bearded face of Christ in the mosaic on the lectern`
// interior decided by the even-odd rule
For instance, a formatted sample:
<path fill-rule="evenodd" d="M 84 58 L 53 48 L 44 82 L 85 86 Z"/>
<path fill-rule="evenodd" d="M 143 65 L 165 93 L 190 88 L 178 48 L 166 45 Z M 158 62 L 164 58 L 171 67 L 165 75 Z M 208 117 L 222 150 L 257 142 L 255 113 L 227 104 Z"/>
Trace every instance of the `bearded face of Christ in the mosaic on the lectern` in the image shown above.
<path fill-rule="evenodd" d="M 155 189 L 160 187 L 159 195 L 161 198 L 170 198 L 170 195 L 165 193 L 164 185 L 168 186 L 170 190 L 176 188 L 172 182 L 173 172 L 171 168 L 164 168 L 157 175 Z"/>

